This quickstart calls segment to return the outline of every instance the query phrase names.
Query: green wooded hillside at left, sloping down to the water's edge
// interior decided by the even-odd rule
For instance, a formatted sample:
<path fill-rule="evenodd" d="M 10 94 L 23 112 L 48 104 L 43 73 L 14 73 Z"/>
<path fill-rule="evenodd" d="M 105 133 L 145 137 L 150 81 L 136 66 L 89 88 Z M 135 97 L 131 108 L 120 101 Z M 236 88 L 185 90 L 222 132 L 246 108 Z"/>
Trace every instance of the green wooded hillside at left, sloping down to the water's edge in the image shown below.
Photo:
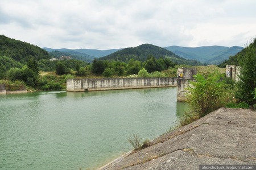
<path fill-rule="evenodd" d="M 30 90 L 61 90 L 65 88 L 66 78 L 60 75 L 74 71 L 79 76 L 87 73 L 88 63 L 84 61 L 51 61 L 51 57 L 36 45 L 1 35 L 0 84 L 6 84 L 8 90 L 17 90 L 17 85 L 25 85 Z"/>

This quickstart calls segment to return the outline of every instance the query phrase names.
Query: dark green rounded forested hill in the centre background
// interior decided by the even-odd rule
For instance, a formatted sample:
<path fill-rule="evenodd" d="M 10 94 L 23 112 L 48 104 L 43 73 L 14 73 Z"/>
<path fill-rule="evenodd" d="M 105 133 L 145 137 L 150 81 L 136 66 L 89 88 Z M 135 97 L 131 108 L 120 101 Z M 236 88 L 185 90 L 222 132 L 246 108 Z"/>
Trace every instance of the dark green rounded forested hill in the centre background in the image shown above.
<path fill-rule="evenodd" d="M 169 58 L 176 64 L 200 65 L 196 60 L 187 60 L 175 55 L 167 49 L 151 44 L 142 44 L 138 47 L 130 47 L 114 52 L 108 56 L 100 57 L 99 60 L 116 60 L 128 62 L 130 59 L 146 61 L 148 56 L 154 56 L 155 59 Z"/>

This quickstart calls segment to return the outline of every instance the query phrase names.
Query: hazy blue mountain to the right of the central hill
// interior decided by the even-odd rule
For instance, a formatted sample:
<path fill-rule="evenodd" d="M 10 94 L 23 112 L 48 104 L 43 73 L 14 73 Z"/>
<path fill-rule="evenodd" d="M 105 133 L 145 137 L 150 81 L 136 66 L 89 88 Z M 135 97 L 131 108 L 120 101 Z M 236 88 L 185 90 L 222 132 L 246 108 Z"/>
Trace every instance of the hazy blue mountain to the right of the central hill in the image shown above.
<path fill-rule="evenodd" d="M 185 59 L 199 60 L 201 63 L 206 64 L 220 64 L 228 59 L 229 56 L 236 55 L 243 49 L 243 47 L 238 46 L 229 48 L 217 45 L 204 47 L 179 47 L 174 45 L 165 48 Z"/>

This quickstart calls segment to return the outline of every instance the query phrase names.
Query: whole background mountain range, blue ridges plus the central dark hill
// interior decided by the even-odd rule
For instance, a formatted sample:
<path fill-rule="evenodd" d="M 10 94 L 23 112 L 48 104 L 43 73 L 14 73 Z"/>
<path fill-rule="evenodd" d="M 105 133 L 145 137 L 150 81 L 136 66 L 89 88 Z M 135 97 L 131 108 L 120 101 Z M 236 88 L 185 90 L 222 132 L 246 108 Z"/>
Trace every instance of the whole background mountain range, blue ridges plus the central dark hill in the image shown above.
<path fill-rule="evenodd" d="M 220 64 L 224 60 L 227 60 L 229 56 L 236 55 L 236 53 L 240 52 L 243 47 L 233 46 L 233 47 L 224 47 L 224 46 L 203 46 L 203 47 L 179 47 L 179 46 L 170 46 L 164 47 L 169 52 L 164 51 L 161 47 L 150 44 L 143 44 L 142 47 L 130 47 L 124 49 L 108 49 L 108 50 L 98 50 L 98 49 L 53 49 L 46 48 L 51 55 L 56 56 L 55 51 L 63 52 L 63 55 L 71 56 L 73 59 L 83 60 L 89 63 L 92 63 L 94 58 L 103 57 L 102 59 L 111 59 L 111 60 L 120 60 L 120 61 L 129 61 L 129 59 L 141 60 L 144 61 L 147 55 L 153 55 L 158 58 L 160 55 L 168 56 L 173 61 L 178 64 L 186 64 L 193 63 L 192 65 L 197 65 L 196 61 L 186 61 L 187 60 L 197 60 L 200 63 L 205 64 Z M 147 48 L 147 49 L 146 49 Z M 159 49 L 160 48 L 160 49 Z M 116 53 L 117 52 L 117 53 Z M 171 53 L 170 53 L 171 52 Z M 176 57 L 178 56 L 178 58 Z M 179 58 L 180 56 L 180 58 Z M 181 58 L 182 57 L 182 58 Z M 100 59 L 100 60 L 102 60 Z M 184 64 L 185 64 L 184 63 Z"/>

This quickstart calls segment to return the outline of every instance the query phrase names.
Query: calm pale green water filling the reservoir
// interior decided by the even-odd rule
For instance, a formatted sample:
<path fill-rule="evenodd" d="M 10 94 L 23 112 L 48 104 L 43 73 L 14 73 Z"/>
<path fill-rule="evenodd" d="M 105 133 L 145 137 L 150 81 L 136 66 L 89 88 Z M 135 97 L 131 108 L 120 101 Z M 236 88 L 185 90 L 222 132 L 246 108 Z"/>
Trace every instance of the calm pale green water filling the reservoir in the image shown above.
<path fill-rule="evenodd" d="M 95 169 L 154 139 L 187 106 L 176 88 L 0 96 L 0 169 Z"/>

